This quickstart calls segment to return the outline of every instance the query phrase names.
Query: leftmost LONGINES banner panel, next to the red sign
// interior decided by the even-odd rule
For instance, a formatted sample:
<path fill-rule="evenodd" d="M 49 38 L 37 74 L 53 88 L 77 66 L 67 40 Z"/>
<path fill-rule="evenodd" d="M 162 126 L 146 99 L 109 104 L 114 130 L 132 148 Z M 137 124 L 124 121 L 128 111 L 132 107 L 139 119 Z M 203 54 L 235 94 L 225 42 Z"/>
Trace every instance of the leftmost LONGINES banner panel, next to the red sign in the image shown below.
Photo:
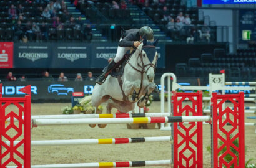
<path fill-rule="evenodd" d="M 52 62 L 52 44 L 15 43 L 14 68 L 49 68 Z"/>

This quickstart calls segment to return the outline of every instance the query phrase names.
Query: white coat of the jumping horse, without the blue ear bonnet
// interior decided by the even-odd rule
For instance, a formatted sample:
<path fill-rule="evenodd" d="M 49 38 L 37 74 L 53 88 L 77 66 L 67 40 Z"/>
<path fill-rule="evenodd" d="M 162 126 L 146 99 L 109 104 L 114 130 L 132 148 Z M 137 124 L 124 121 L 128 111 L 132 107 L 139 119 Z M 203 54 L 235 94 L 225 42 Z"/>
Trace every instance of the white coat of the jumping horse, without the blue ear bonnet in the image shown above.
<path fill-rule="evenodd" d="M 149 63 L 157 62 L 157 52 L 155 53 L 155 58 L 153 62 L 150 62 L 147 58 L 147 54 L 142 50 L 143 43 L 137 47 L 137 50 L 130 56 L 130 64 L 137 68 L 138 70 L 142 70 L 139 65 L 142 65 L 142 60 L 144 65 Z M 142 60 L 140 60 L 139 54 L 142 52 L 144 56 L 142 56 Z M 138 65 L 139 64 L 139 65 Z M 149 69 L 148 69 L 149 68 Z M 148 70 L 147 70 L 148 69 Z M 139 93 L 139 99 L 142 98 L 146 93 L 150 94 L 155 88 L 154 77 L 155 72 L 153 67 L 145 67 L 146 72 L 143 73 L 143 77 L 141 77 L 141 73 L 132 68 L 129 64 L 126 64 L 124 67 L 124 74 L 122 75 L 122 89 L 124 90 L 124 94 L 127 96 L 129 101 L 123 101 L 123 95 L 121 88 L 119 86 L 119 82 L 117 78 L 109 75 L 106 78 L 106 81 L 102 83 L 102 85 L 96 84 L 94 90 L 92 91 L 92 105 L 96 107 L 101 105 L 103 102 L 107 102 L 107 113 L 111 113 L 112 108 L 117 108 L 119 111 L 127 113 L 131 110 L 134 110 L 135 103 L 138 100 L 132 101 L 131 95 L 140 90 L 140 82 L 142 80 L 142 88 Z M 142 79 L 141 79 L 142 78 Z M 88 98 L 87 98 L 88 99 Z M 144 106 L 145 102 L 140 101 L 139 105 Z M 82 101 L 84 102 L 84 101 Z M 96 113 L 100 113 L 96 110 Z"/>

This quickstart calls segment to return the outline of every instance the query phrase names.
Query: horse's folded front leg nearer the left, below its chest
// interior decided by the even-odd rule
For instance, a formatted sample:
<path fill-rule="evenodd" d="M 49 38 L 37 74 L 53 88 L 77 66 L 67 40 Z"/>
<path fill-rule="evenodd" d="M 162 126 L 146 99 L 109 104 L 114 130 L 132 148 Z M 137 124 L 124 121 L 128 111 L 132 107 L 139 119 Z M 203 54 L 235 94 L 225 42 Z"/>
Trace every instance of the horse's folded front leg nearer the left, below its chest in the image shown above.
<path fill-rule="evenodd" d="M 124 93 L 130 102 L 139 100 L 140 80 L 126 81 L 123 84 Z"/>

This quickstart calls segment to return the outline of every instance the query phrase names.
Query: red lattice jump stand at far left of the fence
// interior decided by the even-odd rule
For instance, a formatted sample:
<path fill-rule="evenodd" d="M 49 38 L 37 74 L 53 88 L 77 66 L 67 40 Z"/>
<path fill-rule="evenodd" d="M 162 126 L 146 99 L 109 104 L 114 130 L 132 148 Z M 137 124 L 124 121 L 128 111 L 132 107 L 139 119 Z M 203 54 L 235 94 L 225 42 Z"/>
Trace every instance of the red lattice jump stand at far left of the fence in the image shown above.
<path fill-rule="evenodd" d="M 16 113 L 7 111 L 12 105 L 18 109 Z M 24 119 L 22 115 L 25 116 Z M 7 118 L 11 119 L 8 123 L 5 122 Z M 14 124 L 14 118 L 19 122 Z M 15 135 L 9 134 L 11 129 L 16 131 Z M 14 141 L 18 138 L 21 142 L 14 146 Z M 4 140 L 10 141 L 10 146 L 5 144 Z M 31 96 L 27 95 L 24 98 L 2 98 L 0 96 L 0 168 L 5 168 L 9 163 L 16 164 L 18 167 L 30 167 L 30 152 Z"/>

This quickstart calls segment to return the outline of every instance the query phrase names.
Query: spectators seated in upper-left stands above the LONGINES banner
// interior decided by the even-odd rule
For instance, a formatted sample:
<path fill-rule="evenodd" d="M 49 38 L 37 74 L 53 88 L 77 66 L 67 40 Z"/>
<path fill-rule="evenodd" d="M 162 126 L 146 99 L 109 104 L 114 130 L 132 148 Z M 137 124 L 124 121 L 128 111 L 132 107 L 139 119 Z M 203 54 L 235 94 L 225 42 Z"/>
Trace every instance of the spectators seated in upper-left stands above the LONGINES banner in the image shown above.
<path fill-rule="evenodd" d="M 14 40 L 49 40 L 50 36 L 57 37 L 58 30 L 67 29 L 71 30 L 71 34 L 78 30 L 85 40 L 92 40 L 91 26 L 83 26 L 84 21 L 81 17 L 75 19 L 69 14 L 64 0 L 26 2 L 31 4 L 31 7 L 23 7 L 22 3 L 16 3 L 16 6 L 11 4 L 7 10 L 8 18 L 5 18 L 4 22 L 10 24 L 14 30 Z"/>

